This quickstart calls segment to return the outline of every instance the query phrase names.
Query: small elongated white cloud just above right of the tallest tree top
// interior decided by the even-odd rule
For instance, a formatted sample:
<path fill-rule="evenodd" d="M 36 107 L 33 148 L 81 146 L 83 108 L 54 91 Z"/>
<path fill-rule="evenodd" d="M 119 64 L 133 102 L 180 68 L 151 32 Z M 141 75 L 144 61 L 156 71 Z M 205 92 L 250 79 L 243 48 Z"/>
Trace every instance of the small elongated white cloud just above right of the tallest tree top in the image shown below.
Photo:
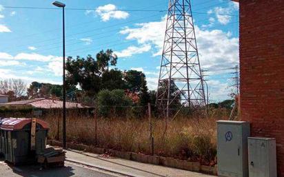
<path fill-rule="evenodd" d="M 133 54 L 142 54 L 143 52 L 148 52 L 151 49 L 151 45 L 145 44 L 141 47 L 130 46 L 121 52 L 114 52 L 118 57 L 129 57 Z"/>

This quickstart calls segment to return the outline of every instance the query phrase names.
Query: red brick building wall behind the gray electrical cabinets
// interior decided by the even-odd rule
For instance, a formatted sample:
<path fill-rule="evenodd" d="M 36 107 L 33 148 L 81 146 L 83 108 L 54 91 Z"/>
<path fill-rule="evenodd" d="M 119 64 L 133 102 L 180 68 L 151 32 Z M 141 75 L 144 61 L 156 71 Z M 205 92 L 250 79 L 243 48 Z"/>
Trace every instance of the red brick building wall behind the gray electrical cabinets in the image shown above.
<path fill-rule="evenodd" d="M 284 177 L 284 0 L 240 0 L 241 118 L 276 138 Z"/>

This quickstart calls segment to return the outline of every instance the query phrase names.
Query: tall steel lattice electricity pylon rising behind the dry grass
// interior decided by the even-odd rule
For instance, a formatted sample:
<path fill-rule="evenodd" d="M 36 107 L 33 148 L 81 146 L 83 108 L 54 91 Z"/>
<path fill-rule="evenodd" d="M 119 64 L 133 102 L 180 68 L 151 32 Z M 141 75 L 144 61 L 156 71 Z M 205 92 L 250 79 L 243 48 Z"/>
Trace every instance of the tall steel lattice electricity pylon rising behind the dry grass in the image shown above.
<path fill-rule="evenodd" d="M 190 0 L 170 0 L 156 105 L 167 117 L 206 104 Z"/>

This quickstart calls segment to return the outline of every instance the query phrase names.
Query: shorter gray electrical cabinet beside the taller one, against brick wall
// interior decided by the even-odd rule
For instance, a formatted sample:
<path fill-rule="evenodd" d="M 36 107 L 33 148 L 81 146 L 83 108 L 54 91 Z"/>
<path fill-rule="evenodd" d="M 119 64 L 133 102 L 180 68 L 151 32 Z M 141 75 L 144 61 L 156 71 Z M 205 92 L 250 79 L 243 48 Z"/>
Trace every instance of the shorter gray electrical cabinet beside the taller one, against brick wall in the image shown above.
<path fill-rule="evenodd" d="M 276 177 L 275 138 L 248 138 L 250 177 Z"/>

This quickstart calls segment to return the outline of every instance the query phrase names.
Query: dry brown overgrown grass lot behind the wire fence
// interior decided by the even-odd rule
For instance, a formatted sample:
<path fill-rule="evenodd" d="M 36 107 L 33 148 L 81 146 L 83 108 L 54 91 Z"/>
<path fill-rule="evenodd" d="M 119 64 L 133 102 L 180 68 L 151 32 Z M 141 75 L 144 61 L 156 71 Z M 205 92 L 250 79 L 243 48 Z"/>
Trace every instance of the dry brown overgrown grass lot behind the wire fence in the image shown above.
<path fill-rule="evenodd" d="M 221 116 L 221 115 L 219 115 Z M 58 118 L 48 116 L 49 138 L 57 139 Z M 219 117 L 222 119 L 223 116 Z M 201 161 L 203 164 L 216 161 L 216 118 L 152 118 L 154 154 L 183 160 Z M 70 143 L 95 145 L 94 118 L 67 118 L 67 140 Z M 147 118 L 98 118 L 97 147 L 125 152 L 150 154 L 149 122 Z M 61 127 L 60 127 L 61 130 Z M 61 132 L 61 131 L 60 131 Z M 61 134 L 60 134 L 61 137 Z"/>

